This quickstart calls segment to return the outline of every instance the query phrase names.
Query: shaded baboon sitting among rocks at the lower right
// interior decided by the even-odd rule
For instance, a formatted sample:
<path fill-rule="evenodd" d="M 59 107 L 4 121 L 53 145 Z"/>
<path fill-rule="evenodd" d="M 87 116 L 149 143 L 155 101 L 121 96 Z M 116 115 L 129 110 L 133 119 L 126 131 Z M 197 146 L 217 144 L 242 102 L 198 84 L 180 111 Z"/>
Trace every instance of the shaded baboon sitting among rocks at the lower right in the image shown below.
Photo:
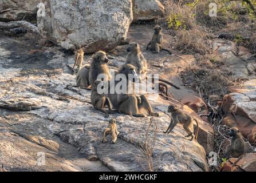
<path fill-rule="evenodd" d="M 238 158 L 245 153 L 245 141 L 243 140 L 242 134 L 238 128 L 231 128 L 229 132 L 231 138 L 230 145 L 226 147 L 226 153 L 224 157 L 227 158 Z"/>

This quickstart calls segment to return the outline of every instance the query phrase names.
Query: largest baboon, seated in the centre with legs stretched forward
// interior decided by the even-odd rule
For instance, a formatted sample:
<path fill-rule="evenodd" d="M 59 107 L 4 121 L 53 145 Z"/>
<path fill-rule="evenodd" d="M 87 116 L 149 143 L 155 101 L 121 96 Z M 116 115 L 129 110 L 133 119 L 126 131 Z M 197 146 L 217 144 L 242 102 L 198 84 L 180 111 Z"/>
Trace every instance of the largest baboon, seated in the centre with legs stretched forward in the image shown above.
<path fill-rule="evenodd" d="M 139 79 L 135 66 L 131 64 L 121 66 L 118 73 L 125 75 L 127 79 L 127 90 L 129 89 L 129 86 L 133 85 L 133 82 L 136 82 Z M 128 77 L 128 74 L 133 74 L 133 78 L 131 79 L 131 77 Z M 117 83 L 118 81 L 115 81 L 115 88 Z M 153 112 L 147 97 L 144 95 L 137 96 L 135 94 L 129 94 L 128 91 L 121 94 L 118 94 L 115 91 L 114 94 L 111 94 L 109 91 L 108 96 L 119 113 L 128 114 L 134 117 L 145 117 L 144 113 L 148 114 L 149 116 L 159 116 L 159 113 Z"/>

